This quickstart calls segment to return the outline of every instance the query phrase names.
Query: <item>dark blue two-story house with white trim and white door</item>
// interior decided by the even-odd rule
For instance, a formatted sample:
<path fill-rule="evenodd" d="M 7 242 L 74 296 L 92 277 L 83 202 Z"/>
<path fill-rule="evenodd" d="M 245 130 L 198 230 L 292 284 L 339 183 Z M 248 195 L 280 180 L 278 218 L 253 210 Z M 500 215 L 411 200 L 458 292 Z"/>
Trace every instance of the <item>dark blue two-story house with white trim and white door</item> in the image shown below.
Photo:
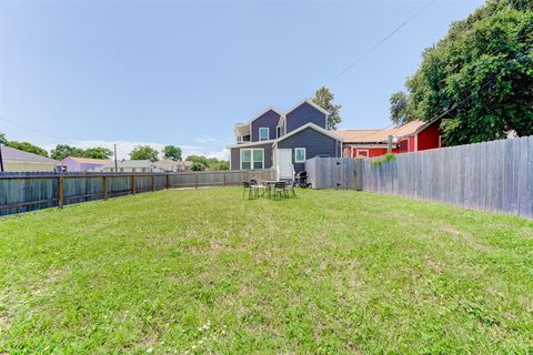
<path fill-rule="evenodd" d="M 304 100 L 286 113 L 268 108 L 234 128 L 237 144 L 230 149 L 231 170 L 275 168 L 279 179 L 303 171 L 305 160 L 341 156 L 342 138 L 328 131 L 328 111 Z"/>

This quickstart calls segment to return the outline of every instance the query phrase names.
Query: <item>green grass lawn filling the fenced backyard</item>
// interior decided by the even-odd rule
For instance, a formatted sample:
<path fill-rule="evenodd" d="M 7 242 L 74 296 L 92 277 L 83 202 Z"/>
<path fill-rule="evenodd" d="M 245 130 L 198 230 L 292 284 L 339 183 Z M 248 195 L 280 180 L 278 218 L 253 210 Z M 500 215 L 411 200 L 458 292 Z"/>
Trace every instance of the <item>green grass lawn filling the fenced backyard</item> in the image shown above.
<path fill-rule="evenodd" d="M 353 191 L 0 219 L 0 354 L 533 352 L 533 222 Z"/>

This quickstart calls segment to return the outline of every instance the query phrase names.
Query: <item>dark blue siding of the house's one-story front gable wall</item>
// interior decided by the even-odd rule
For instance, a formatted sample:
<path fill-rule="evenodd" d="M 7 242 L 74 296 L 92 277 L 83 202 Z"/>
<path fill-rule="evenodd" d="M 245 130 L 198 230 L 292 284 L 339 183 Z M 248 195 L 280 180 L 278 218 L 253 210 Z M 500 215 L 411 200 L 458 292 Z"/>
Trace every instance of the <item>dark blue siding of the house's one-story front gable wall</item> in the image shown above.
<path fill-rule="evenodd" d="M 316 155 L 341 156 L 339 141 L 311 128 L 278 142 L 278 148 L 292 150 L 292 163 L 296 173 L 305 170 L 305 163 L 294 163 L 294 148 L 305 148 L 305 159 Z"/>

